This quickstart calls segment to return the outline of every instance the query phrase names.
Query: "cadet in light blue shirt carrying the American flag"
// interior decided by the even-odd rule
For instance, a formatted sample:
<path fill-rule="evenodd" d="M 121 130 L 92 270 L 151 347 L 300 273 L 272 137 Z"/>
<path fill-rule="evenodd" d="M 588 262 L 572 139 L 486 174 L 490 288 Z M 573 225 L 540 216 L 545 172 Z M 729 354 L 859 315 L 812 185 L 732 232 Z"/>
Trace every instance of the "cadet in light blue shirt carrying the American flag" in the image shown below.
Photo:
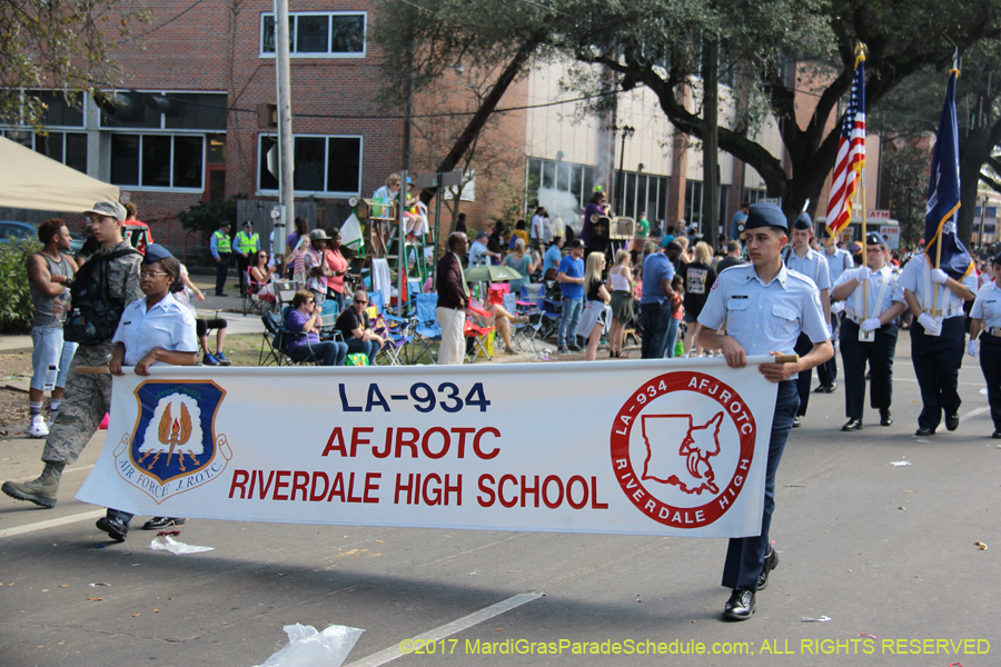
<path fill-rule="evenodd" d="M 896 318 L 906 308 L 896 276 L 886 263 L 889 248 L 879 235 L 869 235 L 866 266 L 849 269 L 834 281 L 832 297 L 844 306 L 841 358 L 844 365 L 843 431 L 862 428 L 865 364 L 872 369 L 869 401 L 880 410 L 880 426 L 891 426 L 893 357 L 896 354 Z"/>

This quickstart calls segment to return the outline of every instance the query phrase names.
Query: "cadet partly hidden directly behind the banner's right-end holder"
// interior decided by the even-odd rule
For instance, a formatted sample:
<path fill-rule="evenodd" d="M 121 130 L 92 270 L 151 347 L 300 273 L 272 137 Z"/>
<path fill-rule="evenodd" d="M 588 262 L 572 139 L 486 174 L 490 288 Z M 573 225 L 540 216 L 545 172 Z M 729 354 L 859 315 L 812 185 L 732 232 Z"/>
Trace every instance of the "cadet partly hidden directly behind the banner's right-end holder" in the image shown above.
<path fill-rule="evenodd" d="M 831 326 L 831 270 L 827 268 L 827 260 L 824 259 L 822 252 L 817 252 L 810 247 L 810 239 L 813 238 L 813 222 L 810 220 L 809 213 L 801 213 L 793 225 L 792 246 L 785 249 L 785 268 L 790 271 L 796 271 L 806 276 L 820 289 L 821 307 L 824 309 L 824 321 L 827 322 L 827 337 L 833 338 L 834 327 Z M 805 355 L 813 348 L 810 337 L 800 334 L 796 341 L 795 352 L 800 356 Z M 833 352 L 831 357 L 833 358 Z M 827 378 L 821 375 L 821 369 L 816 369 L 821 380 L 821 386 L 826 394 L 834 391 L 838 380 L 833 377 Z M 806 406 L 810 404 L 810 378 L 813 371 L 807 369 L 800 374 L 796 379 L 796 388 L 800 392 L 800 409 L 796 410 L 796 418 L 793 427 L 800 426 L 800 418 L 806 416 Z"/>

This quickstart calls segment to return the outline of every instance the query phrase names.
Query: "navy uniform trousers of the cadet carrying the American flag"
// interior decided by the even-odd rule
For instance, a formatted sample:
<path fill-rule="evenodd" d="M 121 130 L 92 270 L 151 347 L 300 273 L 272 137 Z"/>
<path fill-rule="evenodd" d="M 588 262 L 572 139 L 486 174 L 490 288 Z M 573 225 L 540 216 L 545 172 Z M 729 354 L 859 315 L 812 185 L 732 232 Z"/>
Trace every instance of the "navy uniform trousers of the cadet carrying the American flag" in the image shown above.
<path fill-rule="evenodd" d="M 859 325 L 845 318 L 841 325 L 841 365 L 844 367 L 844 414 L 862 419 L 865 405 L 865 362 L 872 370 L 869 405 L 890 409 L 893 402 L 893 357 L 896 354 L 896 322 L 875 330 L 875 340 L 861 342 Z"/>

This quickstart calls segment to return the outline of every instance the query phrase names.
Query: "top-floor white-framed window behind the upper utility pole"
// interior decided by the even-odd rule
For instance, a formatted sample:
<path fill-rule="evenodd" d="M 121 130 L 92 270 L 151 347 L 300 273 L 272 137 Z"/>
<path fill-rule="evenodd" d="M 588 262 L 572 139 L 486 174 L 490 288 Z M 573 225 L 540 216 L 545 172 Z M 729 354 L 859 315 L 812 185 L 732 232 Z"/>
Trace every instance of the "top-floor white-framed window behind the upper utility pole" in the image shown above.
<path fill-rule="evenodd" d="M 288 49 L 294 58 L 364 58 L 366 12 L 289 12 Z M 260 19 L 260 54 L 275 54 L 275 13 Z"/>

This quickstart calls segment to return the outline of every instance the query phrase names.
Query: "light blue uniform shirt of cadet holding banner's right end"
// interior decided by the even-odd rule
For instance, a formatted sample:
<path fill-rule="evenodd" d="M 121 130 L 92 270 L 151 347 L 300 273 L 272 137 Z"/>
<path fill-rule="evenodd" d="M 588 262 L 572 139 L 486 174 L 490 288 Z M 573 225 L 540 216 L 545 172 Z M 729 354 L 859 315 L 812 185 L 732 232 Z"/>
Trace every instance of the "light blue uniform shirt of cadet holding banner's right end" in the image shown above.
<path fill-rule="evenodd" d="M 720 273 L 698 322 L 713 331 L 725 323 L 726 334 L 749 356 L 792 355 L 801 331 L 813 342 L 829 338 L 816 285 L 784 265 L 767 285 L 753 265 Z"/>

